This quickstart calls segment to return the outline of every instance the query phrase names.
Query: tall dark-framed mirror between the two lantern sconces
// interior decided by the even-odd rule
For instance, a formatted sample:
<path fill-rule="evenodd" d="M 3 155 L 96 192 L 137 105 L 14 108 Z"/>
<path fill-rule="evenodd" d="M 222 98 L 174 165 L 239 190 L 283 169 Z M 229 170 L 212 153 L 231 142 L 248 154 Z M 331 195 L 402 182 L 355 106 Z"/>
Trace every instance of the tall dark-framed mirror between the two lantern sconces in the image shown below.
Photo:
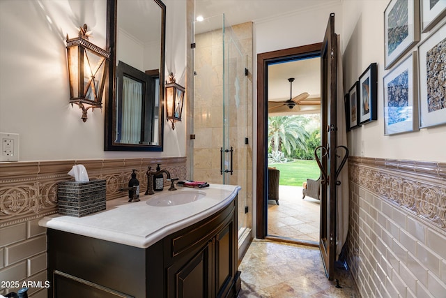
<path fill-rule="evenodd" d="M 162 151 L 166 6 L 107 0 L 105 151 Z"/>

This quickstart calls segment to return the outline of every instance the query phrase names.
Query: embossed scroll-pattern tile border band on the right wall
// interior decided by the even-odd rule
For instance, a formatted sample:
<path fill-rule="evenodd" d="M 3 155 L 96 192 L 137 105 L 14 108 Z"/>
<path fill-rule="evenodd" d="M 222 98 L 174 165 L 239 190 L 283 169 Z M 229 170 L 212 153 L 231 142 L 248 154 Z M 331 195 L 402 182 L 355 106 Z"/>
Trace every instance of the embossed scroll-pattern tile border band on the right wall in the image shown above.
<path fill-rule="evenodd" d="M 351 181 L 446 230 L 446 163 L 351 157 Z"/>

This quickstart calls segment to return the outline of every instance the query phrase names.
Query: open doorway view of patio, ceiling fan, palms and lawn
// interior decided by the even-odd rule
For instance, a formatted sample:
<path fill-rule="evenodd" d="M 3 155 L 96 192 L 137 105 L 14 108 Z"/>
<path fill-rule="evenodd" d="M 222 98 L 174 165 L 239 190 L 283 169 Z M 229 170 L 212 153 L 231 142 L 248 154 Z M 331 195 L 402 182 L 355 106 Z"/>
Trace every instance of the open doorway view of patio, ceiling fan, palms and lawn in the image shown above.
<path fill-rule="evenodd" d="M 316 246 L 321 206 L 314 150 L 321 144 L 321 58 L 273 61 L 267 67 L 268 237 Z"/>

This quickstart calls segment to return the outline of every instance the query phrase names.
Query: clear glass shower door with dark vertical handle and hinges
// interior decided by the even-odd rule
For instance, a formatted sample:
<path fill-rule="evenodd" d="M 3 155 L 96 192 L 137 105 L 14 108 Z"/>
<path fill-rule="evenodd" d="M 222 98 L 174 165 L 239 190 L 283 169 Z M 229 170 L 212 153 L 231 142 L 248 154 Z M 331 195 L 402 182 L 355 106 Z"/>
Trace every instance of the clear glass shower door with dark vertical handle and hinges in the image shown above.
<path fill-rule="evenodd" d="M 223 181 L 242 187 L 238 195 L 238 236 L 250 232 L 251 178 L 248 133 L 247 54 L 224 17 Z M 252 197 L 251 197 L 252 198 Z"/>

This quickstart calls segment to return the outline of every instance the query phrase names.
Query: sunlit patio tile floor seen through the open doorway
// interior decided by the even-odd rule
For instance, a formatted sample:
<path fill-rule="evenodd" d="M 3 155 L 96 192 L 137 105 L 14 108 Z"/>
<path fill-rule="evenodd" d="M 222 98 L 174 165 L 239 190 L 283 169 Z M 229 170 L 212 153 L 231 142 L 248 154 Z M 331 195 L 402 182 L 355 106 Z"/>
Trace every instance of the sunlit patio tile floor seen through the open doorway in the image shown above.
<path fill-rule="evenodd" d="M 302 200 L 302 187 L 279 186 L 279 205 L 268 200 L 268 235 L 318 242 L 320 207 L 313 198 Z"/>

